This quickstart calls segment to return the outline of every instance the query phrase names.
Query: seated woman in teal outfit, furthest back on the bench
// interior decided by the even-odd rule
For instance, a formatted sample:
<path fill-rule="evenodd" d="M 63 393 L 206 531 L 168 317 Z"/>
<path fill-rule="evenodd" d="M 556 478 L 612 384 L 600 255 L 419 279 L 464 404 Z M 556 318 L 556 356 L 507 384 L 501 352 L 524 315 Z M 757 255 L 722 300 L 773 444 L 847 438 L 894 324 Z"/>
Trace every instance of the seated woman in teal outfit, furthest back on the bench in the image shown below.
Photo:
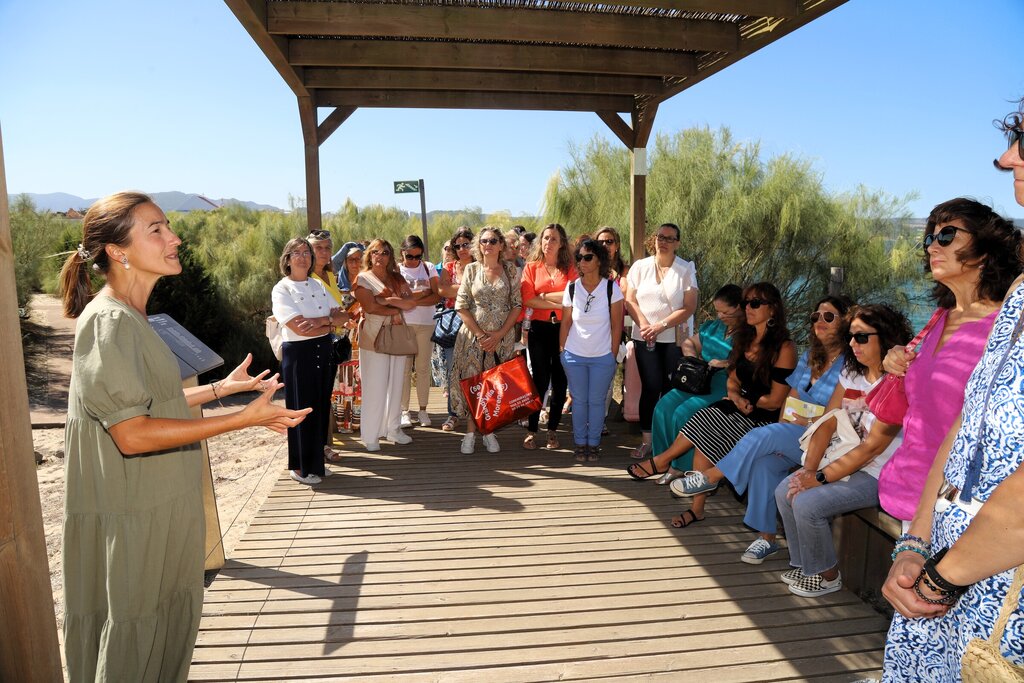
<path fill-rule="evenodd" d="M 699 355 L 713 368 L 726 368 L 732 351 L 732 332 L 743 319 L 742 298 L 743 291 L 736 285 L 726 285 L 716 292 L 713 304 L 717 318 L 701 325 L 697 334 L 683 342 L 683 355 Z M 711 391 L 702 395 L 673 389 L 662 396 L 654 407 L 651 423 L 654 453 L 663 453 L 672 444 L 680 427 L 691 415 L 724 398 L 728 379 L 728 373 L 715 373 L 711 379 Z M 693 450 L 690 449 L 672 461 L 672 467 L 657 482 L 669 483 L 682 476 L 692 465 Z"/>

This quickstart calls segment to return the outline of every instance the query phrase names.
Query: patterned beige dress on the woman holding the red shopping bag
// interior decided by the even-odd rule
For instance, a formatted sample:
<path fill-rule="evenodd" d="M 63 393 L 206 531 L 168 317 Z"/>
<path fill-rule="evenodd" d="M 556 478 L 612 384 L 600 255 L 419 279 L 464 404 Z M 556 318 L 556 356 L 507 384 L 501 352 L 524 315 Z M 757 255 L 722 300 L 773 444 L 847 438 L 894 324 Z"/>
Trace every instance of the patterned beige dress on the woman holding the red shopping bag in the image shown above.
<path fill-rule="evenodd" d="M 483 265 L 470 263 L 462 274 L 459 285 L 459 296 L 456 297 L 456 310 L 466 310 L 472 313 L 476 323 L 484 330 L 497 330 L 502 327 L 509 312 L 514 308 L 522 308 L 522 296 L 519 293 L 519 283 L 515 279 L 515 265 L 503 262 L 504 273 L 497 282 L 487 281 Z M 512 347 L 515 345 L 515 326 L 502 338 L 496 352 L 504 361 L 512 357 Z M 495 366 L 494 355 L 484 357 L 476 337 L 465 325 L 459 329 L 455 340 L 455 354 L 452 360 L 452 372 L 449 374 L 449 396 L 452 400 L 452 413 L 464 418 L 467 415 L 466 398 L 462 394 L 460 380 L 472 377 L 485 368 Z"/>

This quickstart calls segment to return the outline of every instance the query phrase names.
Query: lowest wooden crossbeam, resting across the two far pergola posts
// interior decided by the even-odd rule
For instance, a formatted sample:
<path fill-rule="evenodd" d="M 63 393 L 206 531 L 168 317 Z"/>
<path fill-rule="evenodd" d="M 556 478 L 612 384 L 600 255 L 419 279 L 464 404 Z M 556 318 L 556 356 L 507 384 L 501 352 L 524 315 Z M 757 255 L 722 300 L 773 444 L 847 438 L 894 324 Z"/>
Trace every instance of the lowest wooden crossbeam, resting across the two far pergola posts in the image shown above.
<path fill-rule="evenodd" d="M 449 90 L 317 90 L 316 104 L 395 109 L 629 112 L 633 109 L 633 97 Z"/>

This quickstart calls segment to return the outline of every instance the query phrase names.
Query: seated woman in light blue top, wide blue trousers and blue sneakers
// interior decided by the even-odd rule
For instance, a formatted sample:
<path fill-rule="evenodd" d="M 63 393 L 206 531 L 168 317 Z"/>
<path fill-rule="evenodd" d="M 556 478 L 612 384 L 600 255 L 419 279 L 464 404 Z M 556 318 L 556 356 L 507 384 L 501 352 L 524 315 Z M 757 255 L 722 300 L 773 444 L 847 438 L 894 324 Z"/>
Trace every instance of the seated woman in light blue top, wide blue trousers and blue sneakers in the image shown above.
<path fill-rule="evenodd" d="M 848 348 L 845 315 L 852 305 L 848 298 L 834 296 L 817 303 L 811 313 L 811 348 L 800 357 L 797 369 L 786 380 L 793 387 L 790 397 L 821 407 L 817 415 L 824 412 L 839 382 L 844 351 Z M 813 418 L 808 419 L 807 415 L 782 411 L 777 423 L 751 431 L 718 465 L 703 459 L 695 461 L 698 471 L 673 481 L 672 495 L 682 498 L 713 490 L 723 477 L 737 494 L 746 492 L 743 523 L 760 536 L 739 559 L 748 564 L 761 564 L 778 552 L 775 486 L 793 468 L 800 466 L 803 455 L 800 437 L 811 422 Z"/>

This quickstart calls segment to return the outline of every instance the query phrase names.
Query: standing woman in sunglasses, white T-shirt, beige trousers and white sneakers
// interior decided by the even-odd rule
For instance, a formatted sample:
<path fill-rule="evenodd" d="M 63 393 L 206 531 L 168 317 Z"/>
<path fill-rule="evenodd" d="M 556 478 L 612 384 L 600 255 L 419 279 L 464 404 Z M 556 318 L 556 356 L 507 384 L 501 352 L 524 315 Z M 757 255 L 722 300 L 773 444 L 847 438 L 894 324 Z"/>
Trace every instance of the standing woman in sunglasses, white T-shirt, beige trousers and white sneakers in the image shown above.
<path fill-rule="evenodd" d="M 416 331 L 418 352 L 412 362 L 406 364 L 406 381 L 401 389 L 401 426 L 413 426 L 413 415 L 409 410 L 410 394 L 413 392 L 413 373 L 416 373 L 416 397 L 420 411 L 416 421 L 421 427 L 430 426 L 427 400 L 430 398 L 430 354 L 434 344 L 430 336 L 434 333 L 434 304 L 440 301 L 437 271 L 434 264 L 424 259 L 423 240 L 410 234 L 401 243 L 401 263 L 398 271 L 406 279 L 416 307 L 406 312 L 406 324 Z"/>

